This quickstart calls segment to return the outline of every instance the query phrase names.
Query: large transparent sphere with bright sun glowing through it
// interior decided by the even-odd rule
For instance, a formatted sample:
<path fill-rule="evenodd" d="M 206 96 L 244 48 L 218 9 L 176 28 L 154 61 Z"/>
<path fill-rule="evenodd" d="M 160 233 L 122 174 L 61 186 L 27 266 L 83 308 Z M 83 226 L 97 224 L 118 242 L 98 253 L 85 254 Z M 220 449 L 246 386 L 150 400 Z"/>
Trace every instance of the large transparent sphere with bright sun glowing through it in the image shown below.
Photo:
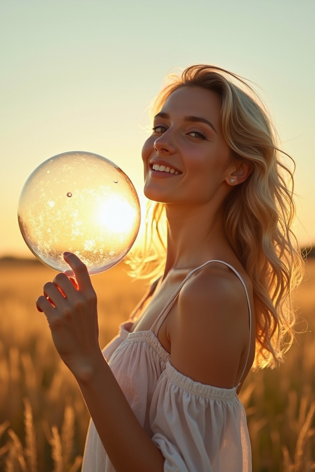
<path fill-rule="evenodd" d="M 64 152 L 38 166 L 18 202 L 18 223 L 32 253 L 60 272 L 69 251 L 98 274 L 121 261 L 136 239 L 140 205 L 119 167 L 91 152 Z"/>

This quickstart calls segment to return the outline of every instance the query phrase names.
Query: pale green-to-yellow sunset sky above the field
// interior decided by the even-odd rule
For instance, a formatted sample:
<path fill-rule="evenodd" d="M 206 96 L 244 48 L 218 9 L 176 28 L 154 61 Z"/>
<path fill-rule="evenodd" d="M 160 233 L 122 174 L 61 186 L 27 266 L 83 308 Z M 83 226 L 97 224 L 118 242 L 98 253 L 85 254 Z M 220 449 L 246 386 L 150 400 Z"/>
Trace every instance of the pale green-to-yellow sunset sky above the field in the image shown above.
<path fill-rule="evenodd" d="M 214 64 L 255 84 L 296 161 L 299 243 L 315 242 L 314 0 L 0 0 L 0 257 L 29 257 L 17 203 L 67 151 L 114 161 L 144 210 L 141 148 L 163 78 Z"/>

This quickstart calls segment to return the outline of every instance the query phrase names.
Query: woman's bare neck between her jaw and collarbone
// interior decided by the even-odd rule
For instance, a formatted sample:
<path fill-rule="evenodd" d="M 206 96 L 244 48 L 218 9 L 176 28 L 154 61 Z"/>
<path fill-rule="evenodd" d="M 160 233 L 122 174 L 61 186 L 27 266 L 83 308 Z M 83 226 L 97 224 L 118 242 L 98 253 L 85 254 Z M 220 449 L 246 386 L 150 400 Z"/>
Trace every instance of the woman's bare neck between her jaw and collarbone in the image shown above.
<path fill-rule="evenodd" d="M 164 278 L 171 269 L 198 267 L 231 251 L 223 224 L 223 209 L 209 204 L 166 204 L 168 246 Z"/>

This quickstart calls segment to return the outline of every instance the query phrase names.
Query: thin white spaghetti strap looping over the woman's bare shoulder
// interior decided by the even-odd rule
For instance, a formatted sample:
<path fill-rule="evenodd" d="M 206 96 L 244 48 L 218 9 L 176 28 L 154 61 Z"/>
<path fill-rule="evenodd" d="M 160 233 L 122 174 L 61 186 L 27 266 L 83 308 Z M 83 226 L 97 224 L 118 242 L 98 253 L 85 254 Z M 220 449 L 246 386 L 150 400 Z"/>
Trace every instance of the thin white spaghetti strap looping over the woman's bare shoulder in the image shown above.
<path fill-rule="evenodd" d="M 248 296 L 248 292 L 247 292 L 247 288 L 246 288 L 246 285 L 245 285 L 245 282 L 244 280 L 241 278 L 241 276 L 239 275 L 238 271 L 236 269 L 234 269 L 234 267 L 232 267 L 230 264 L 228 264 L 227 262 L 224 262 L 224 261 L 220 261 L 220 260 L 217 260 L 217 259 L 213 259 L 211 261 L 207 261 L 207 262 L 204 262 L 204 264 L 202 264 L 201 266 L 199 267 L 196 267 L 196 269 L 193 269 L 191 272 L 189 272 L 189 274 L 187 275 L 186 278 L 184 278 L 184 280 L 181 282 L 181 284 L 179 285 L 179 287 L 177 287 L 177 289 L 175 290 L 175 292 L 173 293 L 173 295 L 171 295 L 170 299 L 168 300 L 168 302 L 166 303 L 166 305 L 164 306 L 164 308 L 162 309 L 162 312 L 159 314 L 159 316 L 156 318 L 156 320 L 154 321 L 153 325 L 151 326 L 150 328 L 150 331 L 153 331 L 155 333 L 156 336 L 158 336 L 158 332 L 159 332 L 159 329 L 161 328 L 162 326 L 162 323 L 163 321 L 165 320 L 165 318 L 167 317 L 168 313 L 170 312 L 170 309 L 171 307 L 173 306 L 173 304 L 175 303 L 176 301 L 176 298 L 177 296 L 179 295 L 179 292 L 181 290 L 181 288 L 183 287 L 183 285 L 187 282 L 187 280 L 189 278 L 191 278 L 191 276 L 197 271 L 197 270 L 200 270 L 200 269 L 203 269 L 206 265 L 210 264 L 211 262 L 221 262 L 221 264 L 224 264 L 226 265 L 227 267 L 229 267 L 233 272 L 234 274 L 238 277 L 238 279 L 240 280 L 244 290 L 245 290 L 245 295 L 246 295 L 246 300 L 247 300 L 247 305 L 248 305 L 248 320 L 249 320 L 249 346 L 248 346 L 248 352 L 247 352 L 247 357 L 246 357 L 246 361 L 245 361 L 245 365 L 244 365 L 244 368 L 243 368 L 243 371 L 241 373 L 241 376 L 240 376 L 240 381 L 241 379 L 243 378 L 243 375 L 246 371 L 246 367 L 247 367 L 247 362 L 248 362 L 248 358 L 249 358 L 249 353 L 250 353 L 250 344 L 251 344 L 251 333 L 252 333 L 252 313 L 251 313 L 251 308 L 250 308 L 250 303 L 249 303 L 249 296 Z M 238 383 L 238 385 L 236 387 L 239 387 L 240 385 L 240 382 Z"/>

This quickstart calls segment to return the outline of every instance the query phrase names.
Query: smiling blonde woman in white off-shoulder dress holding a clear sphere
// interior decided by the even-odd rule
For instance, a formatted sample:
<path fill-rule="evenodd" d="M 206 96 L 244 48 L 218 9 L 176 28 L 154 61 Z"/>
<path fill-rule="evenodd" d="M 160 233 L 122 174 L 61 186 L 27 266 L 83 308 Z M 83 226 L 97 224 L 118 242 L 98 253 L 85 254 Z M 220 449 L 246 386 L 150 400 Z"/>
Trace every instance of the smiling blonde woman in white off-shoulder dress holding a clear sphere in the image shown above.
<path fill-rule="evenodd" d="M 277 365 L 292 343 L 302 273 L 280 156 L 237 76 L 192 66 L 159 95 L 142 157 L 145 195 L 158 202 L 151 227 L 159 233 L 165 208 L 167 250 L 136 320 L 104 350 L 110 367 L 77 256 L 64 255 L 77 284 L 58 274 L 37 300 L 92 417 L 84 471 L 251 470 L 237 393 L 253 365 Z"/>

